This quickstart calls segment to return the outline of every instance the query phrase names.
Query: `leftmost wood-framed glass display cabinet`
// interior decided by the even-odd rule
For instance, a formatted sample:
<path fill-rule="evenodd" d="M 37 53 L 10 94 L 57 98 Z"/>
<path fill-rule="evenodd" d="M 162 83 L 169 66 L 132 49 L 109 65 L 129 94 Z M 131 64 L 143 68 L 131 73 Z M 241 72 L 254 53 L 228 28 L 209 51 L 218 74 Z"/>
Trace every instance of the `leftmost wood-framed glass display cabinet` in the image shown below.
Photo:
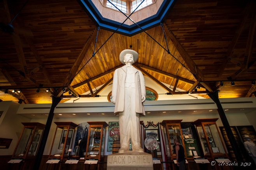
<path fill-rule="evenodd" d="M 33 159 L 37 155 L 45 125 L 38 122 L 23 122 L 22 124 L 24 127 L 12 158 Z"/>

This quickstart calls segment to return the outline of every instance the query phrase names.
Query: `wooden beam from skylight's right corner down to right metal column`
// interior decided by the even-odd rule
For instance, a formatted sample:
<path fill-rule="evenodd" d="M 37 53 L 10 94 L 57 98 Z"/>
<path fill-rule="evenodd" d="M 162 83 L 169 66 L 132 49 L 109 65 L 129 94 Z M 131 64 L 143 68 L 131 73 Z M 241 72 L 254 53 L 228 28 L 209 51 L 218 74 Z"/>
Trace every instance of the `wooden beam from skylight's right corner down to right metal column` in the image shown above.
<path fill-rule="evenodd" d="M 171 39 L 172 43 L 174 44 L 175 48 L 180 53 L 181 57 L 183 58 L 184 62 L 188 65 L 189 70 L 195 74 L 195 78 L 198 79 L 200 77 L 204 77 L 202 72 L 198 69 L 195 62 L 192 60 L 192 58 L 189 56 L 188 52 L 184 49 L 184 47 L 181 45 L 181 43 L 176 39 L 172 31 L 167 27 L 166 24 L 163 24 L 163 28 L 165 30 L 165 33 L 167 33 L 168 37 Z"/>

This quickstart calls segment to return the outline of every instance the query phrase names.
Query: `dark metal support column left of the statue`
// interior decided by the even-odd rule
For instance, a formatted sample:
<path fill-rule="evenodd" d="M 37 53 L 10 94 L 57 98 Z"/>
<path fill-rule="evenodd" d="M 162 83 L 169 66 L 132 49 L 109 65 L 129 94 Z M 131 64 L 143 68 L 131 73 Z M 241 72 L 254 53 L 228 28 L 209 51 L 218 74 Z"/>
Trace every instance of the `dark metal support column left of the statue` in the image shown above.
<path fill-rule="evenodd" d="M 53 96 L 51 110 L 49 112 L 49 116 L 48 116 L 48 119 L 46 122 L 46 127 L 44 128 L 44 133 L 42 135 L 42 140 L 40 142 L 39 149 L 38 149 L 37 155 L 35 157 L 35 163 L 33 165 L 33 170 L 39 170 L 42 156 L 44 153 L 44 148 L 46 146 L 47 137 L 48 137 L 48 134 L 50 131 L 51 123 L 53 122 L 53 116 L 54 116 L 53 112 L 54 112 L 55 107 L 58 105 L 58 103 L 60 103 L 60 101 L 61 101 L 61 98 L 56 98 Z"/>

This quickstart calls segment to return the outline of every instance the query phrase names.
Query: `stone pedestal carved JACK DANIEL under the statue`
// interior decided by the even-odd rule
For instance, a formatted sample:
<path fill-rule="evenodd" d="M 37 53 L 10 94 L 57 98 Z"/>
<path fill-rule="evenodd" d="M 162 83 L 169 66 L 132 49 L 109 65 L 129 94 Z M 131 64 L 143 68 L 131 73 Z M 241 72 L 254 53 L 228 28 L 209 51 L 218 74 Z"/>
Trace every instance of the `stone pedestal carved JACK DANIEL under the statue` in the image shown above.
<path fill-rule="evenodd" d="M 153 170 L 152 155 L 135 151 L 108 155 L 107 170 Z"/>

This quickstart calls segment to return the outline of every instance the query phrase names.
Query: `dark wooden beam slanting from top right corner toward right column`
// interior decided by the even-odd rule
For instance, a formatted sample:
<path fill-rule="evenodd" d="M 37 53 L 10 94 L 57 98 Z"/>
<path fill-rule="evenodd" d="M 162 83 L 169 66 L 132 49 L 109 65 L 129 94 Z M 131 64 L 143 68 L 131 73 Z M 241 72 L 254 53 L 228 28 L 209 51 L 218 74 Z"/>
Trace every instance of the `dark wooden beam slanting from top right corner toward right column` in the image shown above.
<path fill-rule="evenodd" d="M 230 45 L 228 46 L 228 50 L 227 50 L 227 52 L 226 52 L 226 55 L 225 55 L 225 58 L 224 58 L 224 60 L 223 60 L 223 62 L 222 62 L 222 65 L 221 65 L 221 67 L 220 67 L 220 70 L 218 71 L 218 73 L 217 73 L 217 77 L 221 77 L 221 75 L 223 74 L 223 72 L 224 72 L 224 69 L 226 68 L 226 65 L 228 64 L 228 61 L 230 61 L 230 58 L 229 58 L 229 56 L 231 55 L 231 53 L 233 52 L 233 50 L 234 50 L 234 48 L 235 48 L 235 45 L 237 44 L 237 40 L 238 40 L 238 38 L 239 38 L 239 36 L 240 36 L 240 34 L 242 33 L 242 31 L 243 31 L 243 29 L 244 29 L 244 25 L 245 25 L 245 22 L 246 22 L 246 20 L 247 20 L 247 18 L 248 18 L 248 15 L 249 15 L 249 12 L 250 12 L 250 3 L 251 3 L 252 1 L 248 1 L 247 2 L 247 5 L 246 5 L 246 7 L 245 7 L 245 9 L 244 9 L 244 15 L 243 15 L 243 17 L 242 17 L 242 19 L 241 19 L 241 21 L 240 21 L 240 24 L 238 24 L 238 27 L 237 27 L 237 30 L 235 31 L 235 34 L 234 34 L 234 36 L 233 36 L 233 39 L 231 40 L 231 42 L 230 42 Z"/>

